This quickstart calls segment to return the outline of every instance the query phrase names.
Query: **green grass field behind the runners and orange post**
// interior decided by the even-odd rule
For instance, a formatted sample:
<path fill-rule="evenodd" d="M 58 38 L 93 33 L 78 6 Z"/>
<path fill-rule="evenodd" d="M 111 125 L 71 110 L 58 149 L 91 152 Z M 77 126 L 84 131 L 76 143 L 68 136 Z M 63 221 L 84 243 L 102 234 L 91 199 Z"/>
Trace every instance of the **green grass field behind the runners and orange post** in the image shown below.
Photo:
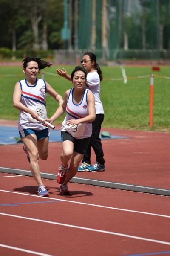
<path fill-rule="evenodd" d="M 74 66 L 52 66 L 45 69 L 47 81 L 57 93 L 64 96 L 72 84 L 57 75 L 56 68 L 63 68 L 70 74 Z M 170 77 L 170 67 L 160 67 L 160 71 L 152 71 L 151 67 L 124 67 L 127 84 L 122 79 L 120 67 L 101 66 L 103 81 L 101 82 L 101 100 L 105 111 L 102 127 L 145 131 L 170 132 L 170 79 L 154 77 L 153 127 L 149 125 L 150 116 L 150 74 Z M 48 74 L 50 73 L 50 74 Z M 147 76 L 136 78 L 138 76 Z M 39 76 L 41 78 L 41 76 Z M 0 119 L 18 120 L 19 111 L 13 107 L 12 95 L 17 81 L 25 79 L 20 67 L 0 67 Z M 58 103 L 47 96 L 47 113 L 50 117 L 58 107 Z M 55 121 L 61 124 L 65 115 Z"/>

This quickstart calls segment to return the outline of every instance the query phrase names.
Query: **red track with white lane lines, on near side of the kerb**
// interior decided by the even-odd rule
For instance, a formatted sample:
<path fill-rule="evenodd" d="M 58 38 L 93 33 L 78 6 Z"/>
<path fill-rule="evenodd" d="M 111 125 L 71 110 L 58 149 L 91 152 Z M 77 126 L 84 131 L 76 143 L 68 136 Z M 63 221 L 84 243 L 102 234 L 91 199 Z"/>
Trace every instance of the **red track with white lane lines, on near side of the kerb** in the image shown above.
<path fill-rule="evenodd" d="M 0 255 L 170 255 L 169 197 L 43 181 L 0 174 Z"/>

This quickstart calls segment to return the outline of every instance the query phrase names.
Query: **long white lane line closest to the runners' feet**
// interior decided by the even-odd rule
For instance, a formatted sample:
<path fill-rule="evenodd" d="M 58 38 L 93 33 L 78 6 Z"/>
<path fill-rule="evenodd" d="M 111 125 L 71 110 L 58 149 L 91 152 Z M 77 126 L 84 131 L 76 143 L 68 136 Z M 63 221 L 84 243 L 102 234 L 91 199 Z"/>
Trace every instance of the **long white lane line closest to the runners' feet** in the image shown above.
<path fill-rule="evenodd" d="M 74 203 L 74 204 L 85 204 L 85 205 L 89 205 L 89 206 L 113 209 L 113 210 L 118 210 L 118 211 L 134 212 L 134 213 L 141 213 L 141 214 L 159 216 L 159 217 L 164 217 L 164 218 L 170 218 L 169 215 L 161 215 L 161 214 L 151 213 L 151 212 L 140 212 L 140 211 L 134 211 L 134 210 L 128 210 L 128 209 L 121 209 L 121 208 L 115 208 L 115 207 L 110 207 L 110 206 L 98 205 L 98 204 L 88 204 L 88 203 L 64 200 L 64 199 L 59 199 L 59 198 L 40 197 L 39 195 L 29 195 L 29 194 L 26 194 L 26 193 L 19 193 L 19 192 L 7 191 L 7 190 L 2 190 L 2 189 L 0 189 L 0 191 L 19 194 L 19 195 L 35 196 L 35 197 L 38 197 L 38 198 L 43 198 L 43 199 L 48 199 L 48 200 L 51 199 L 51 200 L 64 201 L 64 202 Z"/>

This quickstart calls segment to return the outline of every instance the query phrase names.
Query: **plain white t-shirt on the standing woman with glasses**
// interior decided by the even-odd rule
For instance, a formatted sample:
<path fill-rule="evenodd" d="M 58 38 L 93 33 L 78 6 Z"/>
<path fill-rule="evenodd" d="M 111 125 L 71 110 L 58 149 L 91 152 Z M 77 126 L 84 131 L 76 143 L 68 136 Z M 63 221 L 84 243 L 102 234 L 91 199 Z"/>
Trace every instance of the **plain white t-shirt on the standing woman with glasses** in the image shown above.
<path fill-rule="evenodd" d="M 94 94 L 96 114 L 104 114 L 102 102 L 100 100 L 100 78 L 97 71 L 93 71 L 87 74 L 87 81 L 89 89 Z"/>

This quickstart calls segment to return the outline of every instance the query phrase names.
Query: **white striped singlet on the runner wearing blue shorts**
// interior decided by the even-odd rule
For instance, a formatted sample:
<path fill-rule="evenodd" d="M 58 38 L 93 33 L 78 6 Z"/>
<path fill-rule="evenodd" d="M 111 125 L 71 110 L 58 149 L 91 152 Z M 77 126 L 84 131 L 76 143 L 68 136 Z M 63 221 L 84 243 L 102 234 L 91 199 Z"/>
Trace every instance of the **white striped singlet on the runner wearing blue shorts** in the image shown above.
<path fill-rule="evenodd" d="M 27 84 L 26 79 L 19 81 L 20 87 L 22 90 L 22 96 L 20 102 L 25 105 L 27 108 L 35 108 L 40 115 L 43 113 L 43 118 L 47 118 L 46 114 L 46 84 L 42 79 L 36 79 L 34 86 Z M 29 117 L 29 118 L 28 118 Z M 20 111 L 19 130 L 23 129 L 34 129 L 34 130 L 43 130 L 46 129 L 41 122 L 36 119 L 31 120 L 31 115 L 24 111 Z"/>

